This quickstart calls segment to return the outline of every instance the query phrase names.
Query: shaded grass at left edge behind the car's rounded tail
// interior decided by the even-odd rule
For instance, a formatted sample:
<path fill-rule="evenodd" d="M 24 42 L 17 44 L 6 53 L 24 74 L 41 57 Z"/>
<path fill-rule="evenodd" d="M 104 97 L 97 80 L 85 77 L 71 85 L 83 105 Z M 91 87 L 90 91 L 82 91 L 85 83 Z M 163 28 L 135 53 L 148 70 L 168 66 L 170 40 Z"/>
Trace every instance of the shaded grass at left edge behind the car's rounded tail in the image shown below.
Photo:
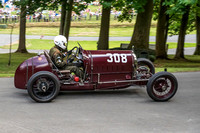
<path fill-rule="evenodd" d="M 0 77 L 13 77 L 15 70 L 24 60 L 35 56 L 36 54 L 11 54 L 11 65 L 8 66 L 9 54 L 0 54 Z"/>

